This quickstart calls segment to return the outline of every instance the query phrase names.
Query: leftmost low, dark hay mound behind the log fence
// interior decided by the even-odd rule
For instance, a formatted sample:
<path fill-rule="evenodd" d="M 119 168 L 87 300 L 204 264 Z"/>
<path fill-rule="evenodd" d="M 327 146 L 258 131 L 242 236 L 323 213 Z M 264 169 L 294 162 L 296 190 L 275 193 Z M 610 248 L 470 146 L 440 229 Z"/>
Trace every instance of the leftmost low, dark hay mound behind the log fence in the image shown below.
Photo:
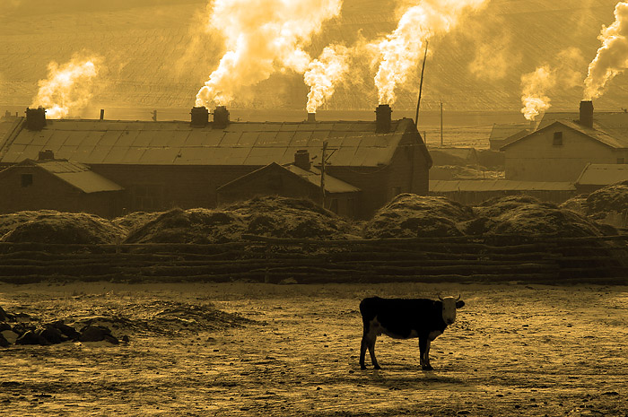
<path fill-rule="evenodd" d="M 14 216 L 19 222 L 14 222 L 13 230 L 4 234 L 4 242 L 107 244 L 116 243 L 126 234 L 126 230 L 108 220 L 88 213 L 41 211 Z M 29 217 L 30 220 L 23 222 Z"/>

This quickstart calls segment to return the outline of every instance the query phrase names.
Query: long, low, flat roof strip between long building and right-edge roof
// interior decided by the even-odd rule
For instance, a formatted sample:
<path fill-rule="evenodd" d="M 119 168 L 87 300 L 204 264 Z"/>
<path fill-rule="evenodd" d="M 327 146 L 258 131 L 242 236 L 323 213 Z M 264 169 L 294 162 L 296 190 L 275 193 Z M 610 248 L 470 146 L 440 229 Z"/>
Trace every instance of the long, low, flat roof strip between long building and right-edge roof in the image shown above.
<path fill-rule="evenodd" d="M 485 191 L 574 191 L 571 182 L 512 181 L 509 179 L 431 180 L 431 193 Z"/>

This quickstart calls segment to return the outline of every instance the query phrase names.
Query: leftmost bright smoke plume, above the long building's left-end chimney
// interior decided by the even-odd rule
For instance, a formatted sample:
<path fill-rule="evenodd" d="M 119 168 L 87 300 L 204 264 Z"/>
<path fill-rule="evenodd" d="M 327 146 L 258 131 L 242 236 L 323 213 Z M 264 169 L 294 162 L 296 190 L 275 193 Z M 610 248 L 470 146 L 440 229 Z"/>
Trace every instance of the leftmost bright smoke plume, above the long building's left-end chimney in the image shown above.
<path fill-rule="evenodd" d="M 48 64 L 48 78 L 39 80 L 39 91 L 31 107 L 46 108 L 46 117 L 63 118 L 83 109 L 92 99 L 93 80 L 99 73 L 101 58 L 74 56 L 65 65 Z"/>

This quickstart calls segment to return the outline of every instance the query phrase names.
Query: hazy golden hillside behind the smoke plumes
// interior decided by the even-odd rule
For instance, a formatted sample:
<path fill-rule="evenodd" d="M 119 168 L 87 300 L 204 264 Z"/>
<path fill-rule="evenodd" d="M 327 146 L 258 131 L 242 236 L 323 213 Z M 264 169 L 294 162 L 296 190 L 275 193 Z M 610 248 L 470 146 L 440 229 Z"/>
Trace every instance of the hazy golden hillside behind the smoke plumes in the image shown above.
<path fill-rule="evenodd" d="M 93 2 L 90 2 L 93 3 Z M 0 6 L 0 109 L 31 103 L 48 62 L 65 63 L 75 52 L 104 56 L 106 69 L 93 104 L 110 107 L 188 108 L 222 56 L 217 35 L 198 37 L 204 0 L 22 1 Z M 106 4 L 105 4 L 106 3 Z M 602 24 L 613 22 L 615 0 L 493 0 L 457 31 L 432 42 L 426 69 L 425 109 L 440 100 L 451 110 L 517 110 L 520 76 L 537 65 L 557 65 L 565 48 L 582 51 L 586 71 L 599 46 Z M 52 5 L 51 5 L 52 4 Z M 149 5 L 150 4 L 150 5 Z M 342 18 L 328 22 L 312 41 L 314 56 L 327 44 L 366 39 L 396 27 L 392 0 L 345 0 Z M 38 5 L 35 7 L 34 5 Z M 4 7 L 4 8 L 3 8 Z M 72 10 L 72 12 L 69 12 Z M 364 60 L 368 62 L 368 59 Z M 478 65 L 485 63 L 485 65 Z M 368 65 L 356 68 L 327 109 L 372 109 L 376 94 Z M 628 98 L 626 76 L 596 102 L 618 109 Z M 416 80 L 414 80 L 416 82 Z M 416 83 L 399 94 L 396 109 L 413 109 Z M 241 107 L 302 109 L 301 76 L 274 75 Z M 552 95 L 554 110 L 576 109 L 581 89 Z"/>

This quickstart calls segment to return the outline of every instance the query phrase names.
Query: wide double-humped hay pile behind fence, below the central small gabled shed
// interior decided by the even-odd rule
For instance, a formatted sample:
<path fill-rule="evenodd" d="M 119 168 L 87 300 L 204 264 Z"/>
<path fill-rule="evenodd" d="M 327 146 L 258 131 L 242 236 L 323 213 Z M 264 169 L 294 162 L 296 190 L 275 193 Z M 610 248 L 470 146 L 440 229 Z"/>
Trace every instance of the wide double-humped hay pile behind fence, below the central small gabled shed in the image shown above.
<path fill-rule="evenodd" d="M 126 243 L 223 243 L 242 234 L 294 239 L 350 239 L 357 230 L 305 199 L 257 197 L 218 210 L 174 209 L 131 231 Z"/>

